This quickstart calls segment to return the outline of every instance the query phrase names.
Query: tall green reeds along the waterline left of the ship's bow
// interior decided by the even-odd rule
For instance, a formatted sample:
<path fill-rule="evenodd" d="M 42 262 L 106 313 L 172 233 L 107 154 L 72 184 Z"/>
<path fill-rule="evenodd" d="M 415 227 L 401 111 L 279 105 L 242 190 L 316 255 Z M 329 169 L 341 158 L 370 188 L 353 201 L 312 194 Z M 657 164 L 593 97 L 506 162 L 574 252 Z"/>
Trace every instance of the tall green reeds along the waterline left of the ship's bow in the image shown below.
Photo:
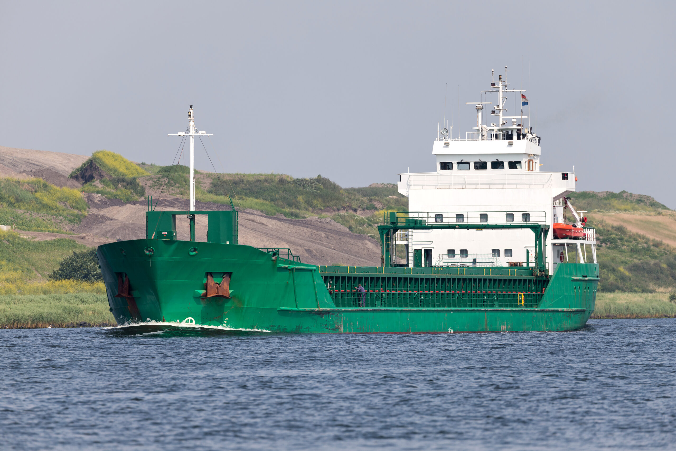
<path fill-rule="evenodd" d="M 0 295 L 0 327 L 115 325 L 105 294 Z"/>

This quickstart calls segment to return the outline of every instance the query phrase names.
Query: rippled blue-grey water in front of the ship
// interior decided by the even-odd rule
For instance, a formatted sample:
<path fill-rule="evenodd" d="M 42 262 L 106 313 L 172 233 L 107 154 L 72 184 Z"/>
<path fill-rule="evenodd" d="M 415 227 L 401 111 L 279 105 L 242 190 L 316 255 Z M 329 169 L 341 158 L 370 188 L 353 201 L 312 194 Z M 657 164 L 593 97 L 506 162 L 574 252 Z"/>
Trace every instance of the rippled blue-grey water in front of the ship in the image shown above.
<path fill-rule="evenodd" d="M 671 449 L 675 338 L 1 330 L 0 448 Z"/>

